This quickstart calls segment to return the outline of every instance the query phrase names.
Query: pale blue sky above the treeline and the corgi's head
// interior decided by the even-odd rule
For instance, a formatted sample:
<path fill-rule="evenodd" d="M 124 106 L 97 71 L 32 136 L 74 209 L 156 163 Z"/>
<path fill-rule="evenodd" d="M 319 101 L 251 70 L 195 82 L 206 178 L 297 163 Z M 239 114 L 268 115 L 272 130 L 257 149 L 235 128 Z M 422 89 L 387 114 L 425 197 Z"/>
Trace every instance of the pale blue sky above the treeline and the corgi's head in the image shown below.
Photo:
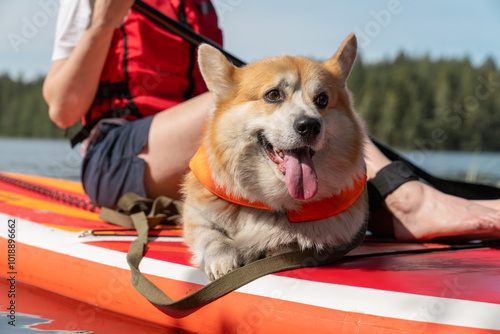
<path fill-rule="evenodd" d="M 225 47 L 247 62 L 292 54 L 330 57 L 351 32 L 364 60 L 401 50 L 432 57 L 492 56 L 500 65 L 500 1 L 212 0 Z M 0 73 L 47 73 L 58 0 L 0 0 Z M 31 28 L 31 29 L 30 29 Z"/>

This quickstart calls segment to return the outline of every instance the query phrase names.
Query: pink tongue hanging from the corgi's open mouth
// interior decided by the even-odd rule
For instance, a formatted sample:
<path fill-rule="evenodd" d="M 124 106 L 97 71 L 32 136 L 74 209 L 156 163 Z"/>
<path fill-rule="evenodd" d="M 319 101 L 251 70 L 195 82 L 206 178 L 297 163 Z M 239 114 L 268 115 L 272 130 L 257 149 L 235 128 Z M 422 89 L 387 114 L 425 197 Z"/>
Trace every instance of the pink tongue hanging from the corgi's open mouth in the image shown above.
<path fill-rule="evenodd" d="M 283 151 L 285 154 L 285 183 L 290 195 L 299 201 L 309 200 L 318 192 L 318 177 L 309 149 Z"/>

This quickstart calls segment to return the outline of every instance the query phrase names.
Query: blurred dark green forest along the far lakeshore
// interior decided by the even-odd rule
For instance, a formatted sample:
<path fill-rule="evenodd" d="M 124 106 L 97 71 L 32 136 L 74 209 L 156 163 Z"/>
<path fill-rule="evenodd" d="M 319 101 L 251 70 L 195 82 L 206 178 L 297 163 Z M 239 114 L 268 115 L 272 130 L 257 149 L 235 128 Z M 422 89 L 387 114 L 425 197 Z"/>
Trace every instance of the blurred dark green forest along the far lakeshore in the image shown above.
<path fill-rule="evenodd" d="M 63 137 L 48 118 L 42 84 L 0 75 L 0 136 Z M 348 87 L 369 131 L 393 147 L 500 151 L 500 71 L 492 60 L 358 57 Z"/>

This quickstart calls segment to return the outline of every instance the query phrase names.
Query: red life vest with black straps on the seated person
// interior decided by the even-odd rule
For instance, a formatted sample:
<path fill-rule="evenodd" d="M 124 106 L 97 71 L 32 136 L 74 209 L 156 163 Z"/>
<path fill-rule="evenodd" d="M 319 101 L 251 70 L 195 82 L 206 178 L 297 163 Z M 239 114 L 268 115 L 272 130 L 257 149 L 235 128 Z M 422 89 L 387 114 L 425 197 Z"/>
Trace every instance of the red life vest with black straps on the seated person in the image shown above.
<path fill-rule="evenodd" d="M 143 0 L 222 45 L 222 32 L 209 0 Z M 129 120 L 154 115 L 207 91 L 196 47 L 132 9 L 116 28 L 92 108 L 83 117 L 83 140 L 102 118 Z"/>

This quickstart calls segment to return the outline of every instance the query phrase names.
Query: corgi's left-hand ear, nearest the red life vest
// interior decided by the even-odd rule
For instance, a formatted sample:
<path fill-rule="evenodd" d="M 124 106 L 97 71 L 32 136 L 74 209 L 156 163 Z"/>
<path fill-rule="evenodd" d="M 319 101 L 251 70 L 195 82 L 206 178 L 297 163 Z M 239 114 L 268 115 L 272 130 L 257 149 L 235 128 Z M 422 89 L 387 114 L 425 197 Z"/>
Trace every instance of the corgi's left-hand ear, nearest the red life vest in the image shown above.
<path fill-rule="evenodd" d="M 202 44 L 198 49 L 198 64 L 214 101 L 228 96 L 233 89 L 233 72 L 236 67 L 222 52 L 213 46 Z"/>

